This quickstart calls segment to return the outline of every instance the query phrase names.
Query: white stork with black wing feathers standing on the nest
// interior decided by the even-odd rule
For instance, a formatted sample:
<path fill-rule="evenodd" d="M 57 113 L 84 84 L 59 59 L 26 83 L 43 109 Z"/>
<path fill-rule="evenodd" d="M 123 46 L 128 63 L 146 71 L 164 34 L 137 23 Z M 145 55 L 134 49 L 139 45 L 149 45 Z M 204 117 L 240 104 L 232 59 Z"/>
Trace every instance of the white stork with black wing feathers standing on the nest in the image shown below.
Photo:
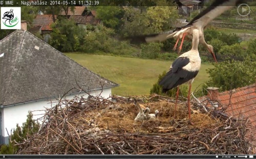
<path fill-rule="evenodd" d="M 162 91 L 165 93 L 170 89 L 178 87 L 176 93 L 176 103 L 175 103 L 175 112 L 177 108 L 177 100 L 179 96 L 179 86 L 188 83 L 188 116 L 189 116 L 189 123 L 191 122 L 190 117 L 190 92 L 191 92 L 191 84 L 194 81 L 194 78 L 197 76 L 200 66 L 201 66 L 201 58 L 198 52 L 198 44 L 199 44 L 199 37 L 200 31 L 197 29 L 193 30 L 193 41 L 192 41 L 192 49 L 185 52 L 181 56 L 179 56 L 170 66 L 169 71 L 166 75 L 162 78 L 159 82 L 159 85 L 162 86 Z M 174 118 L 175 118 L 174 112 Z"/>

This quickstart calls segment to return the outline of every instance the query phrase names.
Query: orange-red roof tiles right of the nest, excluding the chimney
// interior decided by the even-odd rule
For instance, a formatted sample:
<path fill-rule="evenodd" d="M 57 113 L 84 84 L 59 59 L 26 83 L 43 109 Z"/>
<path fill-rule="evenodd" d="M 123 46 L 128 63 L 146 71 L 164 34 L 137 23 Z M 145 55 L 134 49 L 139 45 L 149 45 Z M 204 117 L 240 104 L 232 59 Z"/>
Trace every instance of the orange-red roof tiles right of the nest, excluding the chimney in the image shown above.
<path fill-rule="evenodd" d="M 202 102 L 207 99 L 207 96 L 198 99 Z M 226 109 L 228 115 L 237 118 L 249 117 L 250 123 L 254 127 L 251 133 L 254 136 L 254 145 L 256 145 L 256 84 L 233 89 L 231 91 L 220 92 L 218 94 L 218 101 L 222 105 L 228 105 Z"/>

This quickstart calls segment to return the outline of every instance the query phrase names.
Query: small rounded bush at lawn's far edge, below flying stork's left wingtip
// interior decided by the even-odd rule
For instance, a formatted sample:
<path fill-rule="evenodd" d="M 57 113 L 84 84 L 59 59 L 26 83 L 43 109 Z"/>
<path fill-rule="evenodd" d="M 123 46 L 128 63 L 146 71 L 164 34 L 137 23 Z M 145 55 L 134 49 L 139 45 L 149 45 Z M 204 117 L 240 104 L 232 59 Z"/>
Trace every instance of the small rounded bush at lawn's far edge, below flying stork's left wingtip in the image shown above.
<path fill-rule="evenodd" d="M 162 43 L 141 44 L 140 57 L 144 59 L 156 59 L 159 56 L 162 46 Z"/>

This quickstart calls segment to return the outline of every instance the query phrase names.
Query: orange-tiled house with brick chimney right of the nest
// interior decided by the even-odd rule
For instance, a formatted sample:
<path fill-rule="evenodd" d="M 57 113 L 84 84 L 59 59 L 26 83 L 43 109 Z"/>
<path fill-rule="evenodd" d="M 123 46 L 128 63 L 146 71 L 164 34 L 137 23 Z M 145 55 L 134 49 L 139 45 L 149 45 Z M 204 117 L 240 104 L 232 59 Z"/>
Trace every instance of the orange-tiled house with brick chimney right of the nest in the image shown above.
<path fill-rule="evenodd" d="M 237 119 L 248 117 L 252 128 L 247 136 L 253 136 L 253 145 L 256 146 L 256 78 L 255 84 L 230 91 L 219 92 L 218 88 L 211 87 L 207 96 L 198 99 L 205 104 L 207 102 L 207 107 L 226 107 L 225 113 Z"/>

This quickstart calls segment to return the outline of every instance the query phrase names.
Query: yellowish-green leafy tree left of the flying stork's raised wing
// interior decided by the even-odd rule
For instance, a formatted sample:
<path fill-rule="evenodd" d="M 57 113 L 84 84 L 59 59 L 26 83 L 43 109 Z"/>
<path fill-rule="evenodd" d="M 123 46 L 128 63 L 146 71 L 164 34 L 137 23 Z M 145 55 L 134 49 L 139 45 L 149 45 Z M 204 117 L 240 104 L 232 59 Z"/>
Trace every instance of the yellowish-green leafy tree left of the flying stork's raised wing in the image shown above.
<path fill-rule="evenodd" d="M 161 4 L 160 2 L 158 3 Z M 124 36 L 166 31 L 178 18 L 177 9 L 174 6 L 127 7 L 124 10 L 125 21 L 122 30 Z"/>

